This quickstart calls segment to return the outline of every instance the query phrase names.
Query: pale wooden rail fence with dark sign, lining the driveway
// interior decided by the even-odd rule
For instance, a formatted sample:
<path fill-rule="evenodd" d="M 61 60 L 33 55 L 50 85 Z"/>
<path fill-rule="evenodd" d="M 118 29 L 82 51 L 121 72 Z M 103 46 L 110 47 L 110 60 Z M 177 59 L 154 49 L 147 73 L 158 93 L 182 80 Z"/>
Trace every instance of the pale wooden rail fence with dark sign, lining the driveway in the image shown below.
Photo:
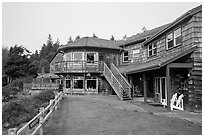
<path fill-rule="evenodd" d="M 19 130 L 17 128 L 11 128 L 8 130 L 9 135 L 25 135 L 26 130 L 32 129 L 31 135 L 40 134 L 43 135 L 43 124 L 48 120 L 51 113 L 57 109 L 57 104 L 59 104 L 62 99 L 63 92 L 57 93 L 54 100 L 50 100 L 49 105 L 44 108 L 40 108 L 40 112 L 31 119 L 28 123 L 26 123 Z"/>

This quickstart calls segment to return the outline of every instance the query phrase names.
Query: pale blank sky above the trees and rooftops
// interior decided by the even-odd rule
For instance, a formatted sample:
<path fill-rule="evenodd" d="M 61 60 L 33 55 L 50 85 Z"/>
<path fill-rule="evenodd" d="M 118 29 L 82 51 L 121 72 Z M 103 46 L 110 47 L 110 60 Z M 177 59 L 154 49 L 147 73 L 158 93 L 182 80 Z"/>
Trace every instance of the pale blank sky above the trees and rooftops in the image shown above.
<path fill-rule="evenodd" d="M 120 40 L 174 21 L 200 2 L 3 2 L 2 46 L 40 50 L 51 34 L 60 44 L 92 36 Z"/>

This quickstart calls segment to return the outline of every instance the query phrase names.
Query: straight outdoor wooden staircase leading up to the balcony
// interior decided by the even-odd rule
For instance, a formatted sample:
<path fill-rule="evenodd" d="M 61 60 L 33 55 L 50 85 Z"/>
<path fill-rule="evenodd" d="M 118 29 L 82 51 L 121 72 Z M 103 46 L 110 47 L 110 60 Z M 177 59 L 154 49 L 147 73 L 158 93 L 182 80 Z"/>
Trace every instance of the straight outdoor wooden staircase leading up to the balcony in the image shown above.
<path fill-rule="evenodd" d="M 131 86 L 113 63 L 111 63 L 111 69 L 104 63 L 103 75 L 120 100 L 131 99 Z"/>

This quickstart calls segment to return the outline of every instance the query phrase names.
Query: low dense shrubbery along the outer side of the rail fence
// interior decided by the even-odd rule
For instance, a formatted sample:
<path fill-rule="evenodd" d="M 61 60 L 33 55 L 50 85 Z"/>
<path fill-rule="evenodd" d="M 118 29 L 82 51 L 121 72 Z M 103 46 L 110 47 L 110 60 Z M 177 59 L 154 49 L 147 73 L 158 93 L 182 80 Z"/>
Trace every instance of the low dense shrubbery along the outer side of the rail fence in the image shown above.
<path fill-rule="evenodd" d="M 39 112 L 40 107 L 46 107 L 54 98 L 54 91 L 47 90 L 31 97 L 9 102 L 2 108 L 2 124 L 7 122 L 9 126 L 3 127 L 11 128 L 28 122 Z"/>

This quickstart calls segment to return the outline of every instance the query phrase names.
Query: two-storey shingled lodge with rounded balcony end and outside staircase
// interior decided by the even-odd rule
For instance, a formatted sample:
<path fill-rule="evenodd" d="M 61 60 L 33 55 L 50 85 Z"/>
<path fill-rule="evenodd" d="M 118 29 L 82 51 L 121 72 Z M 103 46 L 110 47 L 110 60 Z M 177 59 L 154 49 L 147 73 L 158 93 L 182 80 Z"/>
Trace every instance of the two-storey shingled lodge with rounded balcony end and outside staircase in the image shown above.
<path fill-rule="evenodd" d="M 184 110 L 202 110 L 202 6 L 126 40 L 83 37 L 59 47 L 50 73 L 68 94 L 143 96 L 167 106 L 182 95 Z M 59 80 L 58 78 L 58 80 Z"/>

